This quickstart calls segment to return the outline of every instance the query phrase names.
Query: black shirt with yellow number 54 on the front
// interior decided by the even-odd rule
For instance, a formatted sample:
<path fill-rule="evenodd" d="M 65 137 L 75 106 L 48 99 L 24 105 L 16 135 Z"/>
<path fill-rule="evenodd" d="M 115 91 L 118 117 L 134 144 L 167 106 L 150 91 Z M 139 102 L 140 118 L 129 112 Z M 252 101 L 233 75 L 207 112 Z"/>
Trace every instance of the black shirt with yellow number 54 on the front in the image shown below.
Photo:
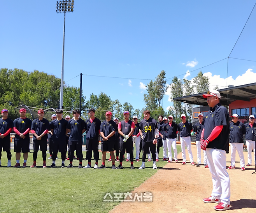
<path fill-rule="evenodd" d="M 148 120 L 144 119 L 140 121 L 139 129 L 142 131 L 143 141 L 144 142 L 153 142 L 155 138 L 155 129 L 157 129 L 157 122 L 153 118 Z"/>

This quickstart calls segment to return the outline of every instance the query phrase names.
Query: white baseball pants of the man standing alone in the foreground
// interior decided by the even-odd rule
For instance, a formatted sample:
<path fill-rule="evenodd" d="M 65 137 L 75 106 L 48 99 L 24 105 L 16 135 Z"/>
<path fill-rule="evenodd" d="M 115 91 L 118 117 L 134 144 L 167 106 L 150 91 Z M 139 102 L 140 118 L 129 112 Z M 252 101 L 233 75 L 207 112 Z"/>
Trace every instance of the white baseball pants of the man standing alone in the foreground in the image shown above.
<path fill-rule="evenodd" d="M 226 169 L 226 151 L 206 148 L 206 156 L 212 174 L 212 197 L 230 205 L 230 178 Z"/>

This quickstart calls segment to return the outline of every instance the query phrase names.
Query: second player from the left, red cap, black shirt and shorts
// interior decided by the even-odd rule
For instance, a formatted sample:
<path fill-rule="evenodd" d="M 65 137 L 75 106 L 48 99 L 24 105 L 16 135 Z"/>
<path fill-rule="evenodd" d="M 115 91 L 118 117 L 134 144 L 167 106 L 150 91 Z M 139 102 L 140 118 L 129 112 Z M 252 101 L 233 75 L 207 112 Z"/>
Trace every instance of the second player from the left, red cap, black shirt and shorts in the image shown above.
<path fill-rule="evenodd" d="M 13 130 L 16 133 L 14 138 L 14 152 L 16 152 L 16 164 L 13 166 L 14 168 L 20 167 L 19 159 L 21 158 L 21 152 L 23 152 L 23 166 L 27 167 L 27 159 L 29 149 L 29 132 L 31 129 L 32 120 L 26 118 L 26 109 L 21 108 L 19 110 L 19 114 L 21 117 L 17 118 L 13 122 Z"/>

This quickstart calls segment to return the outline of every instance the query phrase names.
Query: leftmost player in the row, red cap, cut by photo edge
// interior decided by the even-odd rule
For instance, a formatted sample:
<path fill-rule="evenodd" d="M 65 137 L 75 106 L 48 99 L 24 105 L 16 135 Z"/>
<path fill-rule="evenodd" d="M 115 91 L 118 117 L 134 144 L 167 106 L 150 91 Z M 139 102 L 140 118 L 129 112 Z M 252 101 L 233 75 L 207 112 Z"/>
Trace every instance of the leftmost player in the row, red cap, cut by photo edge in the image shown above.
<path fill-rule="evenodd" d="M 13 127 L 13 121 L 8 118 L 8 110 L 3 109 L 1 111 L 2 118 L 0 118 L 0 166 L 1 157 L 2 157 L 2 149 L 6 152 L 8 163 L 7 167 L 11 167 L 11 137 L 10 133 Z"/>

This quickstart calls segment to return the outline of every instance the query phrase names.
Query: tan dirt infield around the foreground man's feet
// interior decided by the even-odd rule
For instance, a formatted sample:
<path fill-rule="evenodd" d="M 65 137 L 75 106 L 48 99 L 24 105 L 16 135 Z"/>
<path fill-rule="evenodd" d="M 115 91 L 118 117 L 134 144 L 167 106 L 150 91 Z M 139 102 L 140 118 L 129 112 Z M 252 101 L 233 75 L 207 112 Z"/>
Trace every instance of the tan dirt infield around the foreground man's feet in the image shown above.
<path fill-rule="evenodd" d="M 177 145 L 179 146 L 179 145 Z M 192 145 L 193 158 L 196 163 L 196 146 Z M 253 152 L 252 152 L 253 155 Z M 230 166 L 230 154 L 227 154 L 227 166 Z M 162 156 L 160 156 L 162 157 Z M 188 158 L 188 151 L 186 150 Z M 244 152 L 247 164 L 247 152 Z M 216 212 L 214 203 L 203 203 L 202 199 L 209 197 L 212 192 L 212 178 L 209 169 L 203 166 L 196 167 L 188 164 L 181 165 L 181 153 L 178 155 L 179 163 L 168 163 L 164 168 L 142 183 L 133 192 L 151 192 L 152 202 L 122 202 L 111 213 L 204 213 Z M 256 174 L 254 163 L 240 169 L 240 160 L 236 153 L 236 168 L 228 170 L 231 181 L 231 209 L 234 213 L 256 212 Z"/>

